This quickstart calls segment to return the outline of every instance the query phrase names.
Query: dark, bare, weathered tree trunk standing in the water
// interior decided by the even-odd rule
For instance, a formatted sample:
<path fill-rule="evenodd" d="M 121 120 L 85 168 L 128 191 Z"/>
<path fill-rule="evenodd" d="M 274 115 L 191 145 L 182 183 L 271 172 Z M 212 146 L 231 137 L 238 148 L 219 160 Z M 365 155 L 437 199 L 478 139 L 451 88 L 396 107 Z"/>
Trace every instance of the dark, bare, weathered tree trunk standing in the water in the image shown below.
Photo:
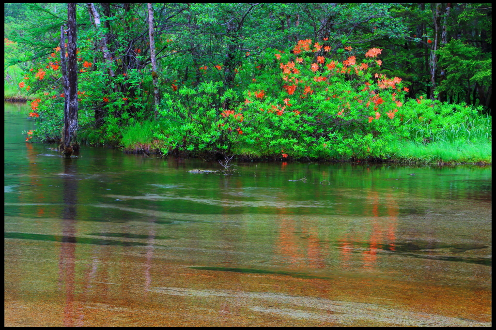
<path fill-rule="evenodd" d="M 65 158 L 69 158 L 79 146 L 76 140 L 77 131 L 77 55 L 76 55 L 76 4 L 67 3 L 67 60 L 65 59 L 65 37 L 61 27 L 61 57 L 64 102 L 64 127 L 60 149 Z"/>

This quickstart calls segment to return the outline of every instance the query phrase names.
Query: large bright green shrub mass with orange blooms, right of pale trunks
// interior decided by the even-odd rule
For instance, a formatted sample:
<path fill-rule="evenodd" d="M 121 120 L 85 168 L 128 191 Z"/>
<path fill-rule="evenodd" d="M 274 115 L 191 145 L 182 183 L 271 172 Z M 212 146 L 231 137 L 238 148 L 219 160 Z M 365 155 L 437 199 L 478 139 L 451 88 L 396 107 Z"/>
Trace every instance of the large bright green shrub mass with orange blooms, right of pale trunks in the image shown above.
<path fill-rule="evenodd" d="M 341 50 L 341 61 L 331 60 L 305 46 L 295 47 L 301 55 L 269 50 L 253 64 L 260 73 L 243 67 L 255 74 L 242 95 L 211 82 L 165 94 L 155 130 L 162 151 L 491 162 L 490 117 L 464 104 L 405 101 L 401 79 L 378 74 L 380 61 L 367 58 L 380 50 L 358 64 L 358 54 Z"/>

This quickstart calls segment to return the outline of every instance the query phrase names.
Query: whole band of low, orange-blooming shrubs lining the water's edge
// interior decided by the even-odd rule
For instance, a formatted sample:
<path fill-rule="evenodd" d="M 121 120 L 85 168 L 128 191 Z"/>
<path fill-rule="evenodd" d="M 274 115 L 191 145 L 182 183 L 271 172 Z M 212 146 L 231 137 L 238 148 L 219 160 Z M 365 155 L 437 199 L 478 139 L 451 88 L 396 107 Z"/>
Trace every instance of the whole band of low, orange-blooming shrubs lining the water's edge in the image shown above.
<path fill-rule="evenodd" d="M 239 67 L 236 82 L 241 87 L 229 89 L 211 80 L 196 87 L 173 84 L 162 97 L 157 120 L 143 124 L 137 122 L 150 113 L 150 77 L 139 70 L 116 77 L 118 85 L 135 86 L 134 97 L 119 90 L 103 93 L 101 86 L 111 82 L 108 76 L 90 70 L 91 51 L 81 45 L 78 137 L 91 143 L 124 145 L 127 150 L 160 144 L 164 154 L 188 156 L 226 152 L 276 159 L 490 162 L 487 148 L 467 147 L 463 153 L 457 151 L 461 156 L 456 157 L 446 151 L 459 150 L 459 141 L 491 145 L 491 119 L 480 116 L 478 109 L 422 97 L 406 100 L 408 88 L 401 79 L 381 73 L 385 71 L 376 57 L 378 49 L 364 56 L 348 47 L 329 57 L 319 50 L 322 45 L 316 43 L 312 48 L 312 44 L 300 41 L 293 53 L 265 50 Z M 62 127 L 63 95 L 44 84 L 55 81 L 60 73 L 51 58 L 25 75 L 37 93 L 44 95 L 31 104 L 30 113 L 41 116 L 31 135 L 41 139 L 59 134 Z M 106 116 L 95 127 L 98 108 Z M 481 126 L 481 120 L 489 125 Z M 467 127 L 469 134 L 462 137 L 459 127 Z M 475 131 L 480 131 L 482 140 L 475 142 Z M 460 136 L 454 144 L 456 134 Z M 434 148 L 440 146 L 440 139 L 444 144 Z M 408 152 L 414 147 L 418 157 Z"/>

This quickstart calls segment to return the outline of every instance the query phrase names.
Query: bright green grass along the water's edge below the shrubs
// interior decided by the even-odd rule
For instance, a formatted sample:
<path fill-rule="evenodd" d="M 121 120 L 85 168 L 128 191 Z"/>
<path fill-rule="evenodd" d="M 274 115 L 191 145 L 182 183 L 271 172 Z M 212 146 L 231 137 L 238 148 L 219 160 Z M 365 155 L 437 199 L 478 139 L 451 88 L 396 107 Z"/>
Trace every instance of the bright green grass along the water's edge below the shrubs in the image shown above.
<path fill-rule="evenodd" d="M 164 141 L 154 137 L 155 127 L 159 122 L 146 121 L 124 127 L 120 145 L 126 153 L 162 154 L 160 149 Z M 491 164 L 491 118 L 478 118 L 467 125 L 451 126 L 432 137 L 432 141 L 391 141 L 390 150 L 383 159 L 365 158 L 362 161 L 387 161 L 403 164 Z M 170 151 L 175 153 L 173 150 Z M 279 155 L 264 154 L 260 150 L 242 146 L 233 146 L 232 153 L 242 160 L 287 160 Z M 182 156 L 194 157 L 192 154 L 180 153 Z M 212 156 L 212 155 L 210 155 Z M 213 155 L 215 156 L 215 155 Z M 202 155 L 208 157 L 208 155 Z M 308 160 L 307 158 L 291 158 Z M 315 159 L 313 159 L 315 160 Z M 336 153 L 335 157 L 323 158 L 322 161 L 352 161 L 355 157 L 343 157 Z"/>

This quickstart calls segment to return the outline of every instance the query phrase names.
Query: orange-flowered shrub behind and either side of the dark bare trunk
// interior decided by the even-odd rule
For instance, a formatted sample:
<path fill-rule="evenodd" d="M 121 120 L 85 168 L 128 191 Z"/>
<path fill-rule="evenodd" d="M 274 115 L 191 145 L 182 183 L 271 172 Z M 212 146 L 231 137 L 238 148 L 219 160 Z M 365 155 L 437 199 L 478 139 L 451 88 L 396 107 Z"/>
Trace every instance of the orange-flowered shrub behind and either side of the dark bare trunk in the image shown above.
<path fill-rule="evenodd" d="M 151 77 L 137 69 L 128 69 L 111 77 L 108 65 L 93 63 L 95 55 L 91 40 L 95 40 L 95 36 L 81 34 L 79 37 L 76 51 L 79 132 L 83 137 L 92 134 L 93 143 L 117 143 L 124 122 L 127 124 L 144 118 L 144 110 L 149 108 L 149 97 L 144 90 L 149 89 Z M 28 91 L 33 88 L 30 92 L 39 95 L 31 103 L 29 117 L 36 119 L 38 124 L 30 140 L 53 140 L 61 136 L 65 95 L 61 84 L 60 51 L 60 47 L 55 48 L 47 58 L 41 59 L 27 71 L 19 82 L 19 88 Z M 136 50 L 136 54 L 140 52 L 140 49 Z M 116 70 L 118 64 L 117 61 L 112 63 L 112 69 Z M 102 113 L 99 123 L 96 123 L 97 113 Z"/>

